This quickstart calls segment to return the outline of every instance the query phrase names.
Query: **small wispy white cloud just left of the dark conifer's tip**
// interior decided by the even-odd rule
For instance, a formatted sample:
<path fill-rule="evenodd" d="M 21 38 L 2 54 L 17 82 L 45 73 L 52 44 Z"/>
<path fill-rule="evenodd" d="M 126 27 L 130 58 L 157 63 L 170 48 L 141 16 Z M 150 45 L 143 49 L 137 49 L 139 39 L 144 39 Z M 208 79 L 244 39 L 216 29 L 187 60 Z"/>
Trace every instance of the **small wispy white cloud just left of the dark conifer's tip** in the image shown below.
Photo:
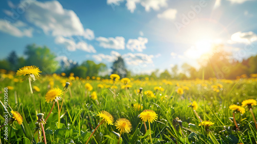
<path fill-rule="evenodd" d="M 99 53 L 98 55 L 93 55 L 92 57 L 99 62 L 103 60 L 108 62 L 114 62 L 118 56 L 120 56 L 119 52 L 111 51 L 111 55 L 104 55 L 103 53 Z"/>

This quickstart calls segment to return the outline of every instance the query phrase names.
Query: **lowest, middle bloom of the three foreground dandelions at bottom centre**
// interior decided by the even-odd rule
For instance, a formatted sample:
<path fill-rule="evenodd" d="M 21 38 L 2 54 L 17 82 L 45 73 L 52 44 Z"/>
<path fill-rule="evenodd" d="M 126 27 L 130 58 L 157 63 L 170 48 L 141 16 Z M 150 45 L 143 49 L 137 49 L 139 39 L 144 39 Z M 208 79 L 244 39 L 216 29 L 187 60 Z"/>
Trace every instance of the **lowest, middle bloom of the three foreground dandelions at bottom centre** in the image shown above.
<path fill-rule="evenodd" d="M 115 127 L 120 131 L 121 134 L 125 133 L 130 133 L 132 129 L 132 124 L 129 120 L 125 118 L 119 118 L 115 122 Z"/>

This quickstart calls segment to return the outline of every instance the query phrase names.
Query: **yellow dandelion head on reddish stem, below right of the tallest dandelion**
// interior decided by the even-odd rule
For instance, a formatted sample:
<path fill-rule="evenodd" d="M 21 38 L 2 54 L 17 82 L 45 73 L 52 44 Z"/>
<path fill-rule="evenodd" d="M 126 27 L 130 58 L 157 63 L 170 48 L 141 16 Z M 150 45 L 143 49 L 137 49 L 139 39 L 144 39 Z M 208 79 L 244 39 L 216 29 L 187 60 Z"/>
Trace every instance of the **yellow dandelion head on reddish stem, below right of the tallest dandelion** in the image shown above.
<path fill-rule="evenodd" d="M 60 96 L 63 95 L 63 91 L 60 88 L 52 88 L 50 89 L 45 96 L 46 102 L 52 102 L 53 100 L 60 100 Z"/>

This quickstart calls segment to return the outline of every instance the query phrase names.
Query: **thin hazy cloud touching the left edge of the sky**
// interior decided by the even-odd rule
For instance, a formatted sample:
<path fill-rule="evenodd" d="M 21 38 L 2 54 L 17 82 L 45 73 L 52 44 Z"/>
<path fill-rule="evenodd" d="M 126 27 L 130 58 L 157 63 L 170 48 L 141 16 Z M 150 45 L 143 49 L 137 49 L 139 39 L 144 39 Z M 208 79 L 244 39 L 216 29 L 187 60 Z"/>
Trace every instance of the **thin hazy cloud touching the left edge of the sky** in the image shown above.
<path fill-rule="evenodd" d="M 7 20 L 0 19 L 0 31 L 13 35 L 14 37 L 32 37 L 33 28 L 25 27 L 23 22 L 16 21 L 11 23 Z"/>

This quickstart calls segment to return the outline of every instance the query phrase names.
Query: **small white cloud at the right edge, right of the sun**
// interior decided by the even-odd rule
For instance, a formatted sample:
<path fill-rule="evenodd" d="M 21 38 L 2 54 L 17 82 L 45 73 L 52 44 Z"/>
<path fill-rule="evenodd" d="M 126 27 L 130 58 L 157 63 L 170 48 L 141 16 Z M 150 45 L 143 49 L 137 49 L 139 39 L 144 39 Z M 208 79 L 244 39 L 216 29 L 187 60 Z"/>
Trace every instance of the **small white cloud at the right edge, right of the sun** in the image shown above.
<path fill-rule="evenodd" d="M 236 43 L 250 44 L 252 42 L 257 41 L 257 35 L 252 31 L 249 31 L 249 32 L 238 31 L 231 35 L 231 41 L 232 43 L 236 42 Z"/>

